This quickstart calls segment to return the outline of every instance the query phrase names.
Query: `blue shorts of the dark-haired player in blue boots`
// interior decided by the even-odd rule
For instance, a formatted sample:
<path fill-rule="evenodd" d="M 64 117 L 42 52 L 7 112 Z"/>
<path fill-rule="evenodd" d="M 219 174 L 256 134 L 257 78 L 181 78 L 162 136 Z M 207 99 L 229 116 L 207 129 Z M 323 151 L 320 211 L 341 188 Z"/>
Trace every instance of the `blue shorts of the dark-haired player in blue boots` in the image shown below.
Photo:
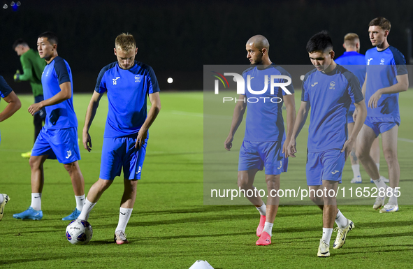
<path fill-rule="evenodd" d="M 78 128 L 49 130 L 41 129 L 34 142 L 31 156 L 49 155 L 59 163 L 73 163 L 80 160 Z"/>

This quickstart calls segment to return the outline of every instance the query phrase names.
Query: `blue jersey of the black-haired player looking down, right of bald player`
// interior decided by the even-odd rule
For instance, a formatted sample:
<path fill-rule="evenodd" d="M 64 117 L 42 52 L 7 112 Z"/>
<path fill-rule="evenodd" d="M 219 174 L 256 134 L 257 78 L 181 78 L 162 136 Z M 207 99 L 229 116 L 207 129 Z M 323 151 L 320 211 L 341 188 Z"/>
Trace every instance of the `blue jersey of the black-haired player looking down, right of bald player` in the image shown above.
<path fill-rule="evenodd" d="M 340 65 L 330 73 L 314 69 L 305 75 L 301 101 L 311 106 L 308 152 L 341 150 L 347 140 L 350 103 L 363 101 L 356 75 Z"/>

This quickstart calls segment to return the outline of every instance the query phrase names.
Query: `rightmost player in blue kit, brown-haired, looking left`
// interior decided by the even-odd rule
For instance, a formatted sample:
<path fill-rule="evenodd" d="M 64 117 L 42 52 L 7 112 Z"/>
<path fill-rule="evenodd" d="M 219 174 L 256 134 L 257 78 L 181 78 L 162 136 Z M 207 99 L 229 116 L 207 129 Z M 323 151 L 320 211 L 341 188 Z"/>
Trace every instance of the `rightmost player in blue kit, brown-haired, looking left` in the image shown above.
<path fill-rule="evenodd" d="M 383 212 L 398 211 L 397 191 L 400 180 L 400 166 L 397 157 L 398 126 L 400 112 L 398 108 L 398 93 L 407 91 L 409 78 L 405 66 L 405 57 L 393 46 L 389 45 L 391 24 L 384 17 L 377 17 L 368 24 L 370 41 L 375 48 L 365 53 L 367 73 L 363 84 L 363 94 L 367 108 L 367 118 L 357 138 L 356 155 L 363 164 L 365 171 L 374 180 L 378 192 L 373 209 Z M 358 117 L 358 112 L 356 112 Z M 375 161 L 370 157 L 373 140 L 382 133 L 384 158 L 389 167 L 390 188 L 380 179 Z M 389 188 L 389 189 L 388 189 Z M 391 191 L 388 191 L 391 190 Z M 385 204 L 386 196 L 389 202 Z"/>

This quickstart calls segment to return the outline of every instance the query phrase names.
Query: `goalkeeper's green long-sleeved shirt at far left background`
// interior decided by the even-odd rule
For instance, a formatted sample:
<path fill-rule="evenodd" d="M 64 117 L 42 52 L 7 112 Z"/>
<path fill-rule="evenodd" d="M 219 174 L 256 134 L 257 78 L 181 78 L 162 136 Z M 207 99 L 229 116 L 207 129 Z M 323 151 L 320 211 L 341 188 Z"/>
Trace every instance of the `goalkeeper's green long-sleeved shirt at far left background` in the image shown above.
<path fill-rule="evenodd" d="M 38 56 L 38 52 L 30 49 L 20 56 L 22 62 L 23 73 L 19 76 L 19 80 L 29 81 L 31 90 L 34 96 L 43 94 L 41 77 L 43 69 L 46 66 L 46 61 Z"/>

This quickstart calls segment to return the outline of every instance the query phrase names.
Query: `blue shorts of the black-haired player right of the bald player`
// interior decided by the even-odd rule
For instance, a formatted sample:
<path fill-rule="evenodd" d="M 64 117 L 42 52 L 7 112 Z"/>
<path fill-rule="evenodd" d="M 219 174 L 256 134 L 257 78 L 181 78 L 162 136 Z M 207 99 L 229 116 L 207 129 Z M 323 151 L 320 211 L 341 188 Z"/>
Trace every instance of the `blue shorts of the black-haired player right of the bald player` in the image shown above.
<path fill-rule="evenodd" d="M 345 152 L 341 152 L 341 150 L 307 152 L 307 165 L 305 166 L 307 185 L 319 186 L 323 184 L 323 180 L 341 183 L 344 165 Z"/>

